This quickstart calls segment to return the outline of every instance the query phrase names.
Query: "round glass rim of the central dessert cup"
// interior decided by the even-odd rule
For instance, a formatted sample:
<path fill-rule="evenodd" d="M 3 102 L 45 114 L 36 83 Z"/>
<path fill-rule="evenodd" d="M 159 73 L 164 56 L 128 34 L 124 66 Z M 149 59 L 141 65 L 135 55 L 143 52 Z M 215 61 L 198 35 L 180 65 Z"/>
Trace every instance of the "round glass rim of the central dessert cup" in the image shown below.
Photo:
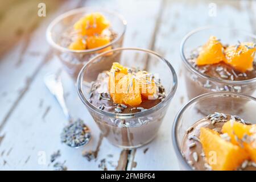
<path fill-rule="evenodd" d="M 102 55 L 108 54 L 110 52 L 115 52 L 115 51 L 141 51 L 141 52 L 146 52 L 148 54 L 154 55 L 156 57 L 159 58 L 159 60 L 162 60 L 168 67 L 168 69 L 171 71 L 172 73 L 172 80 L 170 82 L 171 86 L 171 90 L 168 93 L 168 95 L 166 96 L 166 98 L 160 102 L 159 104 L 155 105 L 154 107 L 151 107 L 150 109 L 147 109 L 145 111 L 142 112 L 137 112 L 137 113 L 111 113 L 109 111 L 104 111 L 99 109 L 98 107 L 92 105 L 85 97 L 84 92 L 82 91 L 82 78 L 84 77 L 84 70 L 87 67 L 87 65 L 89 65 L 90 63 L 92 63 L 92 61 L 98 59 L 98 57 L 101 57 Z M 90 109 L 96 111 L 96 113 L 101 114 L 101 115 L 106 115 L 108 117 L 112 117 L 112 118 L 120 118 L 120 119 L 128 119 L 128 118 L 133 118 L 133 117 L 144 117 L 145 115 L 148 115 L 152 112 L 158 111 L 159 109 L 161 109 L 163 106 L 165 106 L 166 104 L 168 104 L 169 101 L 171 101 L 172 97 L 174 97 L 174 94 L 176 92 L 177 89 L 177 75 L 175 72 L 175 69 L 172 67 L 171 63 L 169 61 L 167 61 L 166 59 L 164 59 L 162 56 L 158 55 L 158 53 L 154 52 L 154 51 L 150 51 L 148 49 L 143 49 L 143 48 L 135 48 L 135 47 L 122 47 L 122 48 L 115 48 L 109 51 L 105 51 L 100 53 L 99 55 L 93 57 L 92 59 L 90 59 L 88 61 L 88 63 L 86 63 L 81 71 L 79 72 L 79 76 L 77 77 L 77 92 L 79 94 L 80 100 L 84 103 L 85 106 L 89 107 Z"/>

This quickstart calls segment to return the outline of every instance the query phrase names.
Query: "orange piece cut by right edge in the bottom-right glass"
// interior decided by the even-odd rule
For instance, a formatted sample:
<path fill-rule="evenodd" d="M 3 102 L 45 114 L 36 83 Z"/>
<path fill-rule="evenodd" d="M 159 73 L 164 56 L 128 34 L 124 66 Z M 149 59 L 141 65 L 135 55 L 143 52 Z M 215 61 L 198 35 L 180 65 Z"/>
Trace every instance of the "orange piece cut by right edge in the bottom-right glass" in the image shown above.
<path fill-rule="evenodd" d="M 231 142 L 236 145 L 243 145 L 249 153 L 250 159 L 256 162 L 256 125 L 243 125 L 242 123 L 228 121 L 222 126 L 222 133 L 228 133 Z M 245 136 L 254 138 L 246 141 Z"/>

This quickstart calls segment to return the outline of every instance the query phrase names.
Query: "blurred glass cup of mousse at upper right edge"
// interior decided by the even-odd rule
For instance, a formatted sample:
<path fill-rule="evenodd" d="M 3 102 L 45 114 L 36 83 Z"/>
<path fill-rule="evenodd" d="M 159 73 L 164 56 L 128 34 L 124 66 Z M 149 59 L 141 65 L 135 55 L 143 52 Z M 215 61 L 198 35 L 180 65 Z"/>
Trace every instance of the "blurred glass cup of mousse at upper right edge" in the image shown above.
<path fill-rule="evenodd" d="M 188 98 L 208 92 L 254 95 L 256 36 L 226 27 L 204 27 L 189 32 L 180 55 Z"/>

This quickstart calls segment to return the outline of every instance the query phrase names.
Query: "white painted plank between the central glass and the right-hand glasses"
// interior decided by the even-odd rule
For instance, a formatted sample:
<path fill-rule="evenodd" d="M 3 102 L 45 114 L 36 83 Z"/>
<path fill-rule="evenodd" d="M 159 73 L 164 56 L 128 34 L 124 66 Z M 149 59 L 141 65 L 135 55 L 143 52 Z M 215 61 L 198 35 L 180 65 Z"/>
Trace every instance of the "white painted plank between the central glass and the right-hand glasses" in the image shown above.
<path fill-rule="evenodd" d="M 209 3 L 216 3 L 216 16 L 208 16 Z M 156 32 L 155 51 L 161 53 L 174 66 L 179 77 L 175 97 L 171 101 L 158 137 L 152 143 L 138 148 L 128 169 L 179 170 L 172 147 L 171 127 L 177 111 L 187 102 L 183 73 L 180 71 L 180 41 L 189 31 L 209 25 L 233 26 L 251 31 L 247 3 L 241 1 L 166 1 L 159 31 Z M 148 148 L 146 154 L 144 150 Z M 133 157 L 132 157 L 133 158 Z M 131 163 L 137 163 L 132 167 Z"/>

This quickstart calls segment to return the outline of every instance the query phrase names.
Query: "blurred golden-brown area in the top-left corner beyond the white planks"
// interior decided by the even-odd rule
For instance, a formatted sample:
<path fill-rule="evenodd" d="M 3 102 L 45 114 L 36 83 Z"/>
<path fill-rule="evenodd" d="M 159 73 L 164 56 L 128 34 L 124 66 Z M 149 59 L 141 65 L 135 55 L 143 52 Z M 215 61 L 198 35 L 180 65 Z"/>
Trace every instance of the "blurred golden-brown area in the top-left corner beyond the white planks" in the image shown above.
<path fill-rule="evenodd" d="M 19 61 L 22 61 L 22 54 L 30 42 L 31 33 L 44 19 L 37 15 L 39 3 L 46 4 L 47 16 L 51 16 L 51 13 L 61 5 L 60 0 L 1 1 L 0 57 L 14 47 L 20 39 L 23 39 L 23 51 L 20 51 L 19 57 Z"/>

